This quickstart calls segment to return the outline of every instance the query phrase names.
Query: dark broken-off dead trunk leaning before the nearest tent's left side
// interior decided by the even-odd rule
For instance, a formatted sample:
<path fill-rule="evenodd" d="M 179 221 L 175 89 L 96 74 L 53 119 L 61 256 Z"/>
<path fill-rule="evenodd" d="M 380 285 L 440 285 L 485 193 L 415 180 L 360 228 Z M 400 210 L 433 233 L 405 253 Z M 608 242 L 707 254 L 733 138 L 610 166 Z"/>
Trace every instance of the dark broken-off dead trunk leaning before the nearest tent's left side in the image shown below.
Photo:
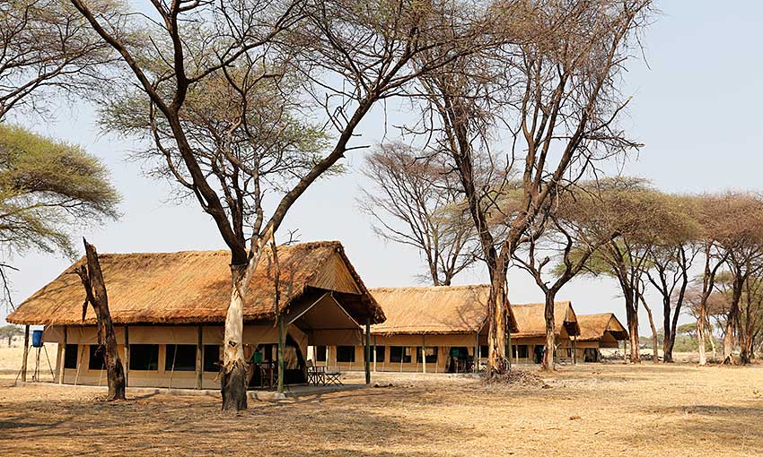
<path fill-rule="evenodd" d="M 101 263 L 98 261 L 98 253 L 83 239 L 84 250 L 87 258 L 87 268 L 80 266 L 80 279 L 87 294 L 83 308 L 83 320 L 88 302 L 95 311 L 98 323 L 98 343 L 105 350 L 106 376 L 109 384 L 108 401 L 125 400 L 125 369 L 119 359 L 117 350 L 117 334 L 114 331 L 114 323 L 111 321 L 109 311 L 109 297 L 106 294 L 106 284 L 103 281 Z"/>

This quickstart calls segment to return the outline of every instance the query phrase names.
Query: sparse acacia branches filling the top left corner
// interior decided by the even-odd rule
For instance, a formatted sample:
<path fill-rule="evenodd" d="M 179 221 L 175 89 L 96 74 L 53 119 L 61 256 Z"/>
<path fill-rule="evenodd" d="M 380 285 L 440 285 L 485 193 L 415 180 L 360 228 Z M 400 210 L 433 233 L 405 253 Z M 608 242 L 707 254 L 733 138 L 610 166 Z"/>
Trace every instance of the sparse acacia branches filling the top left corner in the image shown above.
<path fill-rule="evenodd" d="M 116 13 L 109 0 L 99 0 L 97 8 L 105 15 Z M 0 3 L 0 122 L 12 108 L 41 112 L 53 93 L 92 91 L 113 57 L 67 2 Z"/>

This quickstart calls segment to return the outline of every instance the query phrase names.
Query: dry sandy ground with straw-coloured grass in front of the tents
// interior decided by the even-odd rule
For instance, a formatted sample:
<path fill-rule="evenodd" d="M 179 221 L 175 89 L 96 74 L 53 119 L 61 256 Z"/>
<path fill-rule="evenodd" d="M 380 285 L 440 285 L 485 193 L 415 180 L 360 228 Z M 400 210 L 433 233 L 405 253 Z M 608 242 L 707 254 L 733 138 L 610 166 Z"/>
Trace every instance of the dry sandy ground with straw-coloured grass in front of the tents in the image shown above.
<path fill-rule="evenodd" d="M 210 397 L 10 387 L 19 353 L 0 349 L 0 455 L 763 455 L 763 365 L 589 364 L 548 388 L 375 375 L 392 385 L 230 415 Z"/>

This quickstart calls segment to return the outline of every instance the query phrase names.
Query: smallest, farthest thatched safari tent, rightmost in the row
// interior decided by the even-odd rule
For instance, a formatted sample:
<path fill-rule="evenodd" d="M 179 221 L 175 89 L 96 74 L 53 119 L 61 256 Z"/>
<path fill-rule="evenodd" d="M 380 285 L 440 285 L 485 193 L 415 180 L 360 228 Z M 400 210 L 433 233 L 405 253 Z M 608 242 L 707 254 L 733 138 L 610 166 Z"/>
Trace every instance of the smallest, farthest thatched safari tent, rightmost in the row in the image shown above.
<path fill-rule="evenodd" d="M 618 348 L 620 341 L 627 341 L 628 333 L 612 313 L 577 316 L 580 337 L 577 342 L 577 358 L 583 362 L 598 362 L 603 348 Z"/>

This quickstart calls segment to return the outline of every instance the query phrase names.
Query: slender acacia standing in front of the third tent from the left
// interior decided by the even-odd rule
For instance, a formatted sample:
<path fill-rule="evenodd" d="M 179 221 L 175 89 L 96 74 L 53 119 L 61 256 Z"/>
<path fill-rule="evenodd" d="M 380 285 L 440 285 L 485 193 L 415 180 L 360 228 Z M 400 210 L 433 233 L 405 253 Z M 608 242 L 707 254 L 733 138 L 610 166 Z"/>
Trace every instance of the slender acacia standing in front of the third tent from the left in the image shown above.
<path fill-rule="evenodd" d="M 556 297 L 566 283 L 585 268 L 588 259 L 601 246 L 609 243 L 615 233 L 592 230 L 601 219 L 600 201 L 596 194 L 583 189 L 567 189 L 539 215 L 539 224 L 528 228 L 526 243 L 514 255 L 514 261 L 529 272 L 545 297 L 544 320 L 546 322 L 546 350 L 542 367 L 554 369 L 557 349 L 555 303 Z M 552 254 L 557 260 L 552 265 Z M 552 265 L 552 278 L 544 271 Z"/>

